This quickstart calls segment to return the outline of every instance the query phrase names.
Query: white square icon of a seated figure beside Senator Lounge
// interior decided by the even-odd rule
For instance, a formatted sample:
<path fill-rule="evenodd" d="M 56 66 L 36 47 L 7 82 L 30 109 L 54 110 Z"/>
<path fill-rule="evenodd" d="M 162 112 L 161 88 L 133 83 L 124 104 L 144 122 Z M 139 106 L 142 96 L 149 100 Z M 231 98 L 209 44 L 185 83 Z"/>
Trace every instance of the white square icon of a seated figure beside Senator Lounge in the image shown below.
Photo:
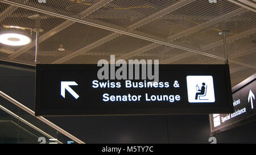
<path fill-rule="evenodd" d="M 215 102 L 212 76 L 187 76 L 188 102 Z"/>

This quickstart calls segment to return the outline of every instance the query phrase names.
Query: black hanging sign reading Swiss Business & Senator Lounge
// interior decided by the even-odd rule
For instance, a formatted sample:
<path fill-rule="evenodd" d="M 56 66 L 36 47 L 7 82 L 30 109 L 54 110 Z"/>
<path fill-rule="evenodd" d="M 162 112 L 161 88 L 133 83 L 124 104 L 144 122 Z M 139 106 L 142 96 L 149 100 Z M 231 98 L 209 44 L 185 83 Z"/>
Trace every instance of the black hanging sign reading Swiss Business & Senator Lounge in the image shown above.
<path fill-rule="evenodd" d="M 130 67 L 130 65 L 129 65 Z M 159 81 L 98 79 L 97 65 L 36 65 L 35 115 L 232 112 L 228 65 L 159 65 Z M 118 68 L 115 68 L 117 70 Z"/>

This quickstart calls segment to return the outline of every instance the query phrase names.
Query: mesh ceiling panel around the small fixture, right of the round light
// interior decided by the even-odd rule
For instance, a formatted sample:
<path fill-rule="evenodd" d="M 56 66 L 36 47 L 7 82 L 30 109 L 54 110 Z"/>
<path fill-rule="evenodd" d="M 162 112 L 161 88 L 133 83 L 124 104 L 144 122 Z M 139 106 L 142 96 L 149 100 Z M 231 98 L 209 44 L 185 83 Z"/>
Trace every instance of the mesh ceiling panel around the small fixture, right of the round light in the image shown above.
<path fill-rule="evenodd" d="M 94 41 L 97 41 L 98 39 L 101 39 L 101 37 L 107 36 L 110 33 L 113 32 L 102 30 L 97 27 L 85 26 L 81 23 L 74 23 L 65 28 L 64 31 L 49 37 L 49 39 L 40 44 L 40 53 L 53 53 L 54 55 L 49 55 L 49 57 L 45 56 L 44 58 L 40 58 L 39 55 L 38 60 L 40 63 L 50 64 L 61 57 L 70 55 L 72 52 L 86 47 L 86 45 L 94 43 Z M 60 45 L 63 45 L 65 51 L 57 51 Z M 73 63 L 76 62 L 74 61 Z"/>

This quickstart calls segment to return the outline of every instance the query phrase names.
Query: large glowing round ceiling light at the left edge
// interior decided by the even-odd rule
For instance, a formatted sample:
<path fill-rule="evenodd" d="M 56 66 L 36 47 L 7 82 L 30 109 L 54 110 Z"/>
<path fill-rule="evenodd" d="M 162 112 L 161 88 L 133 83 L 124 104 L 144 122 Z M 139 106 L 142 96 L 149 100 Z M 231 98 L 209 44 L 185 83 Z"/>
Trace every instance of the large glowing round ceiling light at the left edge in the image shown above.
<path fill-rule="evenodd" d="M 19 33 L 2 33 L 0 43 L 12 46 L 26 45 L 31 42 L 31 38 Z"/>

